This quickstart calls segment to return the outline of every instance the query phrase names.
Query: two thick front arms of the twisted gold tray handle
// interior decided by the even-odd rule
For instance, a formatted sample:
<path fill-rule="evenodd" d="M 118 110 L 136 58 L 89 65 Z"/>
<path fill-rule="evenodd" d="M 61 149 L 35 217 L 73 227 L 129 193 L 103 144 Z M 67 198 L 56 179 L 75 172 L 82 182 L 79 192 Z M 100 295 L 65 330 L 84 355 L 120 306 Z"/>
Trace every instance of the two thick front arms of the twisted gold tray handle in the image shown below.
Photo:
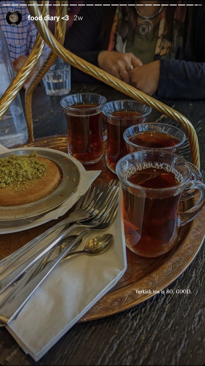
<path fill-rule="evenodd" d="M 27 5 L 37 5 L 36 1 L 26 1 Z M 48 3 L 47 1 L 43 3 Z M 68 1 L 64 2 L 65 4 L 68 3 Z M 43 12 L 45 12 L 45 8 L 48 12 L 48 6 L 43 7 Z M 61 8 L 61 7 L 60 7 Z M 67 7 L 65 7 L 67 8 Z M 61 8 L 62 9 L 62 8 Z M 29 7 L 30 14 L 33 16 L 40 16 L 41 13 L 41 7 L 39 6 L 30 6 Z M 44 16 L 44 15 L 43 15 Z M 145 93 L 135 89 L 134 87 L 118 80 L 114 76 L 108 74 L 107 72 L 99 69 L 98 67 L 88 63 L 87 61 L 81 59 L 80 57 L 74 55 L 72 52 L 69 52 L 67 49 L 65 49 L 60 42 L 58 42 L 53 34 L 48 29 L 48 26 L 46 25 L 46 22 L 44 18 L 42 17 L 42 20 L 34 20 L 35 25 L 41 34 L 42 38 L 46 41 L 46 43 L 49 45 L 49 47 L 52 49 L 53 53 L 55 53 L 57 56 L 61 57 L 64 61 L 70 63 L 72 66 L 78 68 L 81 71 L 86 72 L 86 74 L 93 76 L 94 78 L 105 82 L 107 85 L 110 85 L 111 87 L 114 87 L 115 89 L 121 91 L 122 93 L 136 99 L 139 102 L 143 102 L 156 111 L 159 111 L 160 113 L 163 113 L 164 115 L 170 117 L 171 119 L 175 120 L 179 124 L 181 124 L 189 138 L 190 142 L 190 148 L 191 148 L 191 161 L 193 164 L 197 165 L 197 167 L 200 167 L 200 156 L 199 156 L 199 146 L 198 146 L 198 139 L 197 134 L 194 130 L 194 127 L 190 123 L 190 121 L 183 116 L 181 113 L 175 111 L 171 107 L 168 107 L 167 105 L 163 104 L 160 101 L 155 100 L 152 97 L 147 96 Z M 22 69 L 18 72 L 15 79 L 12 81 L 11 85 L 8 87 L 7 91 L 4 93 L 3 97 L 0 100 L 0 120 L 3 117 L 4 113 L 7 111 L 9 106 L 11 105 L 12 100 L 16 97 L 16 94 L 20 90 L 20 88 L 23 86 L 24 82 L 27 79 L 27 76 L 29 76 L 30 72 L 34 69 L 35 65 L 37 64 L 41 53 L 43 51 L 42 49 L 42 40 L 39 35 L 37 36 L 37 40 L 35 42 L 34 48 L 22 67 Z M 34 64 L 35 61 L 35 64 Z M 31 64 L 30 64 L 31 62 Z M 17 83 L 17 85 L 16 85 Z M 32 120 L 31 120 L 32 124 Z M 31 131 L 30 124 L 28 125 L 29 129 L 29 136 L 32 137 L 33 132 Z"/>

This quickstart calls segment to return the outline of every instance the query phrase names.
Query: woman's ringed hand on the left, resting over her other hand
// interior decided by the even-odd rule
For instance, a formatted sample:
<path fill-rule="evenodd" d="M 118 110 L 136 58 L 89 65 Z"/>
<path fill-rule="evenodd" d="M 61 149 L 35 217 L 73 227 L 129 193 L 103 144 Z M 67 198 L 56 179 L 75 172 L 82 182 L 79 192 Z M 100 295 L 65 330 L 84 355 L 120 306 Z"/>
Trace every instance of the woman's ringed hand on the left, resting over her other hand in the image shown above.
<path fill-rule="evenodd" d="M 128 71 L 141 65 L 132 53 L 101 51 L 98 55 L 98 66 L 127 84 L 130 82 Z"/>

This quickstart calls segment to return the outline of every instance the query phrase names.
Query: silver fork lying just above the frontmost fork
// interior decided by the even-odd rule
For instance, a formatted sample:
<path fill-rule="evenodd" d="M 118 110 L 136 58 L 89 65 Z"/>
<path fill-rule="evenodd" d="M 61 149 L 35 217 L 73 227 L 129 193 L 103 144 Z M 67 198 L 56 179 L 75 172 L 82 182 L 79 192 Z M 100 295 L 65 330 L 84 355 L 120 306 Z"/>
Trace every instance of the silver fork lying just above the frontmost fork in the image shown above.
<path fill-rule="evenodd" d="M 14 283 L 20 276 L 23 275 L 26 270 L 28 270 L 31 266 L 33 266 L 36 262 L 39 261 L 39 259 L 42 258 L 46 253 L 48 253 L 50 250 L 52 250 L 62 239 L 65 238 L 70 232 L 77 228 L 97 228 L 99 230 L 106 229 L 107 227 L 107 218 L 110 217 L 110 213 L 113 211 L 113 208 L 116 208 L 117 200 L 118 200 L 118 194 L 117 193 L 118 186 L 115 187 L 114 194 L 112 192 L 113 198 L 111 199 L 111 202 L 109 201 L 106 210 L 102 213 L 99 212 L 97 216 L 95 216 L 91 221 L 89 221 L 87 224 L 81 224 L 80 221 L 78 221 L 76 224 L 72 225 L 69 228 L 65 228 L 56 239 L 52 240 L 46 246 L 40 250 L 38 250 L 37 253 L 33 254 L 29 259 L 27 259 L 25 262 L 23 262 L 20 266 L 12 270 L 7 276 L 5 276 L 3 279 L 0 280 L 0 294 L 9 287 L 12 283 Z M 111 195 L 111 196 L 112 196 Z M 104 206 L 104 205 L 103 205 Z"/>

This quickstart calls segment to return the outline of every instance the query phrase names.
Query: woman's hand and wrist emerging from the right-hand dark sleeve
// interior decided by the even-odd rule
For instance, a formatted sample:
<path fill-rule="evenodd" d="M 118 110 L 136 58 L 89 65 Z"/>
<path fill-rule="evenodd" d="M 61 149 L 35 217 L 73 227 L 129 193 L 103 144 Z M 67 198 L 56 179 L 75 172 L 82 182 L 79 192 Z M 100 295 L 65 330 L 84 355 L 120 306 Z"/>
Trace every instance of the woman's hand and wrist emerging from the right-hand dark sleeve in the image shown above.
<path fill-rule="evenodd" d="M 155 94 L 159 87 L 159 60 L 128 71 L 130 85 L 148 95 Z"/>

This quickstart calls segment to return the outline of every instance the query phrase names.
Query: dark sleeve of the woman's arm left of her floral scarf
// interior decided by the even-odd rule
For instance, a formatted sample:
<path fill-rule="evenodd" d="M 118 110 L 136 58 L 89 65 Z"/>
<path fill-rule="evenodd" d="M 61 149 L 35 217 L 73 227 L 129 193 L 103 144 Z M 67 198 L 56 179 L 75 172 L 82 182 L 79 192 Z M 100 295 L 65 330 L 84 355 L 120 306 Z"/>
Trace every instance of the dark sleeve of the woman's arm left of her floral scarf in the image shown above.
<path fill-rule="evenodd" d="M 102 6 L 82 6 L 78 17 L 82 20 L 74 20 L 72 27 L 65 36 L 64 47 L 82 59 L 98 65 L 98 54 L 102 51 L 100 32 L 103 20 Z M 71 78 L 74 82 L 96 82 L 90 75 L 71 68 Z"/>

